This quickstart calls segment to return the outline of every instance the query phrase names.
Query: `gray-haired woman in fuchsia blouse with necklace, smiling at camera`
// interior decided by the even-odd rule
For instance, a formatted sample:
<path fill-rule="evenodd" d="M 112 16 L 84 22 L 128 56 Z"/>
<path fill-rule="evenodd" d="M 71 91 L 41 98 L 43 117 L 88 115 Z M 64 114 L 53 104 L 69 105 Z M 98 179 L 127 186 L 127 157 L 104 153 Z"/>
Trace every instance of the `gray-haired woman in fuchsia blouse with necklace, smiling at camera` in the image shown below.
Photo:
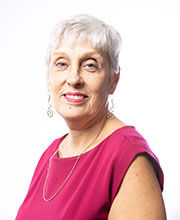
<path fill-rule="evenodd" d="M 47 87 L 69 133 L 42 155 L 16 220 L 166 219 L 156 156 L 108 110 L 120 44 L 114 28 L 88 15 L 55 27 Z"/>

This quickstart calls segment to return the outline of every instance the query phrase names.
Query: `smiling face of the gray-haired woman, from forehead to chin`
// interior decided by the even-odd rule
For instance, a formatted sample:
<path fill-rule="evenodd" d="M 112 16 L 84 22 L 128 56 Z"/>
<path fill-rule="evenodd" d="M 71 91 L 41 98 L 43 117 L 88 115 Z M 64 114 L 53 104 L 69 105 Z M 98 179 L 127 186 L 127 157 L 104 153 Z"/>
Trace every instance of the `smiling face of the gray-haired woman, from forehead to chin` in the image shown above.
<path fill-rule="evenodd" d="M 63 118 L 88 120 L 106 111 L 108 94 L 114 91 L 109 63 L 87 42 L 70 42 L 67 35 L 53 51 L 48 89 Z"/>

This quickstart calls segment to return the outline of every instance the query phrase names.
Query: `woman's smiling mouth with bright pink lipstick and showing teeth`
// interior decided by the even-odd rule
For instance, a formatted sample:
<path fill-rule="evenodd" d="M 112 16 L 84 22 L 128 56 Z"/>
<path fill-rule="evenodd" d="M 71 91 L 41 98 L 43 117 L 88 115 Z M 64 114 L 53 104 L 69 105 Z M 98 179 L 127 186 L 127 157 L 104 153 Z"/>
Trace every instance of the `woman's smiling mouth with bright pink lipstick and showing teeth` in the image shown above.
<path fill-rule="evenodd" d="M 88 96 L 80 92 L 67 92 L 64 94 L 64 98 L 71 103 L 83 102 Z"/>

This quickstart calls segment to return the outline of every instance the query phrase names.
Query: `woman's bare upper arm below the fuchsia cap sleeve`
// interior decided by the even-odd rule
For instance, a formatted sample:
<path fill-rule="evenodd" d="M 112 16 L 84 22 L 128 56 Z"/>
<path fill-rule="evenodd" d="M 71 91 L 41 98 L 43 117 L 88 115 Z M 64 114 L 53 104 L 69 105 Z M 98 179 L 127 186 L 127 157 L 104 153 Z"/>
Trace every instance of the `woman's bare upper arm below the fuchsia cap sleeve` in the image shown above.
<path fill-rule="evenodd" d="M 163 198 L 154 168 L 144 156 L 129 167 L 108 220 L 165 220 Z"/>

